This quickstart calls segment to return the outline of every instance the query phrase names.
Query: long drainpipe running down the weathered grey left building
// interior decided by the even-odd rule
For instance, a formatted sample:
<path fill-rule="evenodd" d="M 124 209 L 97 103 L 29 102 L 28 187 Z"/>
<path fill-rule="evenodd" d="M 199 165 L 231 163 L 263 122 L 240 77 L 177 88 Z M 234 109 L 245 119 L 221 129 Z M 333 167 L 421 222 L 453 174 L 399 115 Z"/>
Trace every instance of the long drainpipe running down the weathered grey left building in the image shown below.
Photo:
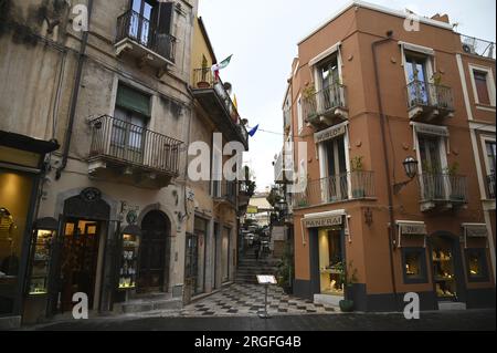
<path fill-rule="evenodd" d="M 68 149 L 70 149 L 70 145 L 71 145 L 71 139 L 73 137 L 74 117 L 76 115 L 77 97 L 80 95 L 81 79 L 82 79 L 82 74 L 83 74 L 83 64 L 84 64 L 85 56 L 86 56 L 86 44 L 88 43 L 89 20 L 92 18 L 92 10 L 93 10 L 93 0 L 88 0 L 88 19 L 87 19 L 88 28 L 87 28 L 87 31 L 83 32 L 83 37 L 81 40 L 80 54 L 78 54 L 78 59 L 77 59 L 76 77 L 75 77 L 74 86 L 73 86 L 73 96 L 71 98 L 67 129 L 65 132 L 65 138 L 64 138 L 64 149 L 62 152 L 62 163 L 61 163 L 61 166 L 55 172 L 56 180 L 59 180 L 61 178 L 62 170 L 64 170 L 65 167 L 67 166 Z"/>

